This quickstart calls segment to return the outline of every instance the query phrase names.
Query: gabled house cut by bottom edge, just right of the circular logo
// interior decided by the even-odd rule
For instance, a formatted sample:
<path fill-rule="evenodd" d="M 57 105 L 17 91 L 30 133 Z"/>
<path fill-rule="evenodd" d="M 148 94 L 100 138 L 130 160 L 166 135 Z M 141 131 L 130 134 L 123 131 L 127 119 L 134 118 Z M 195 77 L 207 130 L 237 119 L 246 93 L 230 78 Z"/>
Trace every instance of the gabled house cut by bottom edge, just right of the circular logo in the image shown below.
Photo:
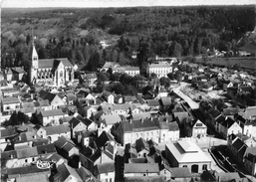
<path fill-rule="evenodd" d="M 70 167 L 68 164 L 63 163 L 57 167 L 57 174 L 53 176 L 54 181 L 64 182 L 83 182 L 76 169 Z"/>

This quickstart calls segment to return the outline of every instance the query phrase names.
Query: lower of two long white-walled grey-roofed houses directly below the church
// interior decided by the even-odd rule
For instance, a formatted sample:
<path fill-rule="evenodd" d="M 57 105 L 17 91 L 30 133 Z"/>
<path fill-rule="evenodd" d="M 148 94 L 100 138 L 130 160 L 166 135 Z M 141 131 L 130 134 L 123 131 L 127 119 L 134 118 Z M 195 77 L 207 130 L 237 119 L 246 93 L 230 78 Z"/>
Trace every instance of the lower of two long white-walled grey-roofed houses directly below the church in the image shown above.
<path fill-rule="evenodd" d="M 49 142 L 54 143 L 60 136 L 64 136 L 68 139 L 71 138 L 71 129 L 68 123 L 53 125 L 48 127 L 40 127 L 37 130 L 37 134 L 41 138 L 47 138 Z"/>

